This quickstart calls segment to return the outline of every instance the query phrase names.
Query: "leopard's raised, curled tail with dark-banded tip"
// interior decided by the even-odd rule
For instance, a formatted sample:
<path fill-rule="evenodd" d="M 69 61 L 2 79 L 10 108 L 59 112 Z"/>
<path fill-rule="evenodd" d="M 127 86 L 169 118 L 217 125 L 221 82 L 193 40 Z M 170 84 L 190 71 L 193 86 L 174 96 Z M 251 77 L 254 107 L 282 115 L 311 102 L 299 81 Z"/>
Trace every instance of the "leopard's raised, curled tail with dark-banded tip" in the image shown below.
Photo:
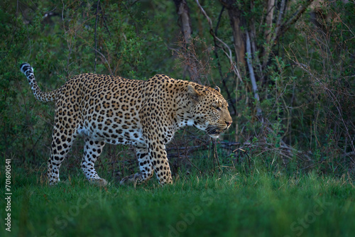
<path fill-rule="evenodd" d="M 35 75 L 33 74 L 33 68 L 27 63 L 23 63 L 20 66 L 21 72 L 26 75 L 28 82 L 31 85 L 31 89 L 35 98 L 39 101 L 50 102 L 55 101 L 55 91 L 53 92 L 42 92 L 40 87 L 38 87 L 37 82 L 35 81 Z"/>

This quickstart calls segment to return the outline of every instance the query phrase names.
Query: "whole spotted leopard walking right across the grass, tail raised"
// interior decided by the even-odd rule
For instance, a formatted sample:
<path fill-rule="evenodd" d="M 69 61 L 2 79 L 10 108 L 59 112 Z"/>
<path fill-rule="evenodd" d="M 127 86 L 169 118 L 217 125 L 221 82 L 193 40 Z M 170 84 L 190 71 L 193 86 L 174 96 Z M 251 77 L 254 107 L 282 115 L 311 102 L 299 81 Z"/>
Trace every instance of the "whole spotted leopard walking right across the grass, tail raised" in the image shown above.
<path fill-rule="evenodd" d="M 77 138 L 84 140 L 81 169 L 92 184 L 107 186 L 94 164 L 104 145 L 131 145 L 139 172 L 120 184 L 141 184 L 153 177 L 160 185 L 172 184 L 165 145 L 176 131 L 193 126 L 217 139 L 232 123 L 229 104 L 219 87 L 155 75 L 146 80 L 85 73 L 68 79 L 58 89 L 43 92 L 33 67 L 21 64 L 33 95 L 55 102 L 53 136 L 48 159 L 49 185 L 60 182 L 59 170 Z"/>

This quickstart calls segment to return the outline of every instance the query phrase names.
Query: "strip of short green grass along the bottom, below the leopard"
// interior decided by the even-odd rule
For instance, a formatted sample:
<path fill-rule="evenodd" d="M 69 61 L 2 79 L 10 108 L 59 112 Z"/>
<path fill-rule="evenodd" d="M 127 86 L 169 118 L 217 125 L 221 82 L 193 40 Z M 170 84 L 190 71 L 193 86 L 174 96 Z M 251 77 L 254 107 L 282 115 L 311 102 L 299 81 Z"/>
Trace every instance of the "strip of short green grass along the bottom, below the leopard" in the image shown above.
<path fill-rule="evenodd" d="M 64 169 L 62 169 L 64 170 Z M 11 233 L 1 198 L 0 236 L 354 236 L 355 189 L 346 177 L 180 175 L 136 188 L 82 175 L 55 187 L 38 172 L 13 170 Z M 1 189 L 5 177 L 1 175 Z"/>

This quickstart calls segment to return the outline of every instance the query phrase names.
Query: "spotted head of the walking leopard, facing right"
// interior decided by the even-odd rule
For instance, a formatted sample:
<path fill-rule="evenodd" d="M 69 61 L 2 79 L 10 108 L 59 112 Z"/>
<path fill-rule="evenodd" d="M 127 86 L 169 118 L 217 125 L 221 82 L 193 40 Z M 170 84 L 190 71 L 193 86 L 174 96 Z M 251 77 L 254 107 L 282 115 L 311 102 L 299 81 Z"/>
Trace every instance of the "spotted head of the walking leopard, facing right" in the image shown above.
<path fill-rule="evenodd" d="M 232 119 L 228 111 L 228 103 L 219 87 L 213 89 L 198 84 L 189 84 L 187 93 L 192 100 L 190 113 L 196 128 L 206 131 L 212 138 L 218 138 L 231 126 Z"/>

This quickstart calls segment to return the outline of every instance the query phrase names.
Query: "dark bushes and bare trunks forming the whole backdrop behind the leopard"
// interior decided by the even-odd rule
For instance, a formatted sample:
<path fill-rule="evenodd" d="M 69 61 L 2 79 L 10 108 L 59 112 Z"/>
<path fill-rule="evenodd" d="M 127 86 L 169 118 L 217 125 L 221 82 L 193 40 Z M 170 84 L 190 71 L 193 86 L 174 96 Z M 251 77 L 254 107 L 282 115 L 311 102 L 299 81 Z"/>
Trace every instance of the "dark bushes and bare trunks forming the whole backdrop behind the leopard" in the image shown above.
<path fill-rule="evenodd" d="M 218 85 L 233 127 L 217 143 L 180 131 L 170 165 L 212 170 L 355 175 L 354 1 L 1 1 L 0 154 L 45 177 L 54 104 L 36 101 L 19 71 L 29 62 L 50 91 L 84 73 Z M 65 163 L 78 169 L 82 143 Z M 209 159 L 210 158 L 210 159 Z M 97 165 L 135 167 L 107 145 Z M 106 164 L 106 165 L 103 165 Z"/>

